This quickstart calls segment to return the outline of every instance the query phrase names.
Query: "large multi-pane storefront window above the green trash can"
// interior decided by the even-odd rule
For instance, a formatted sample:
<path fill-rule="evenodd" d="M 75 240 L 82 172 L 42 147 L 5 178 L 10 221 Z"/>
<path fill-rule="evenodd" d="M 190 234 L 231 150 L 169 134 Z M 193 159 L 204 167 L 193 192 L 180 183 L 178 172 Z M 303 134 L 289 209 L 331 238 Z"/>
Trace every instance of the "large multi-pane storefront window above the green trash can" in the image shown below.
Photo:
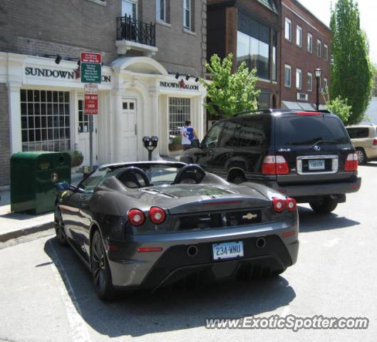
<path fill-rule="evenodd" d="M 22 150 L 69 150 L 69 92 L 21 89 L 20 95 Z"/>

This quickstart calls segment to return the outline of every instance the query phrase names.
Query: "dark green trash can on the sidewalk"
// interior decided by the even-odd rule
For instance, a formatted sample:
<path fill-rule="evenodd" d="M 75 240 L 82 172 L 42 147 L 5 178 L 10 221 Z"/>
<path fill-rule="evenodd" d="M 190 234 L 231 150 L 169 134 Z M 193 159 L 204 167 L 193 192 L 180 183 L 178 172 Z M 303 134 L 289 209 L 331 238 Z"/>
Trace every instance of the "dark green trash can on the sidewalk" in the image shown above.
<path fill-rule="evenodd" d="M 67 152 L 18 152 L 11 156 L 11 211 L 41 214 L 54 209 L 56 182 L 71 183 Z"/>

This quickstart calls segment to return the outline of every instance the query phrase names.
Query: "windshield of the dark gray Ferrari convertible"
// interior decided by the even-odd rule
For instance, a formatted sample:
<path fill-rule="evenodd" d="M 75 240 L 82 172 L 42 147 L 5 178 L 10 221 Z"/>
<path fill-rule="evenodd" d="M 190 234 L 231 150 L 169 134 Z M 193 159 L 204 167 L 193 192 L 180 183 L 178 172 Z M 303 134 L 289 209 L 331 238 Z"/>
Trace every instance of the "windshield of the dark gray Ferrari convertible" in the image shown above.
<path fill-rule="evenodd" d="M 81 182 L 79 187 L 85 192 L 93 192 L 93 189 L 104 182 L 107 178 L 115 176 L 117 177 L 120 172 L 123 172 L 125 167 L 135 166 L 143 170 L 149 178 L 151 184 L 170 184 L 175 180 L 177 171 L 179 167 L 175 165 L 148 165 L 148 164 L 135 164 L 135 165 L 125 165 L 124 167 L 112 168 L 112 167 L 101 167 L 100 169 L 93 172 L 92 175 L 87 177 Z M 140 179 L 140 182 L 143 180 Z"/>

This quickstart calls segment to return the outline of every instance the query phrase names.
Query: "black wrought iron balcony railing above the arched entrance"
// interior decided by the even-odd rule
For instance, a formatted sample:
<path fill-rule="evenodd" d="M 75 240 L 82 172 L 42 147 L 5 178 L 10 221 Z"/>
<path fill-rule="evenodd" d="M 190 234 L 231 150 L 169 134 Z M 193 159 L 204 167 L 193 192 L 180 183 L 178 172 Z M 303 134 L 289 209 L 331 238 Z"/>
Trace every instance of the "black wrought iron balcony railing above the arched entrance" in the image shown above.
<path fill-rule="evenodd" d="M 156 26 L 130 16 L 120 16 L 117 18 L 117 41 L 122 40 L 156 46 Z"/>

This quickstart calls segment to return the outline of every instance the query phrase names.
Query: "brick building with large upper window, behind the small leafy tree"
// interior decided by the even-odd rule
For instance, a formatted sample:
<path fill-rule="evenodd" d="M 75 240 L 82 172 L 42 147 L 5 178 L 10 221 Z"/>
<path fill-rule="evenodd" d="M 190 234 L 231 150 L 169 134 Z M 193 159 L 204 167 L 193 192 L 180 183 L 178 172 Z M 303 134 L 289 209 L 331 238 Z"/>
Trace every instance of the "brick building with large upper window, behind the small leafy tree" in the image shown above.
<path fill-rule="evenodd" d="M 257 68 L 261 108 L 277 108 L 280 16 L 275 0 L 207 0 L 207 59 L 232 53 L 234 70 L 246 61 Z"/>

